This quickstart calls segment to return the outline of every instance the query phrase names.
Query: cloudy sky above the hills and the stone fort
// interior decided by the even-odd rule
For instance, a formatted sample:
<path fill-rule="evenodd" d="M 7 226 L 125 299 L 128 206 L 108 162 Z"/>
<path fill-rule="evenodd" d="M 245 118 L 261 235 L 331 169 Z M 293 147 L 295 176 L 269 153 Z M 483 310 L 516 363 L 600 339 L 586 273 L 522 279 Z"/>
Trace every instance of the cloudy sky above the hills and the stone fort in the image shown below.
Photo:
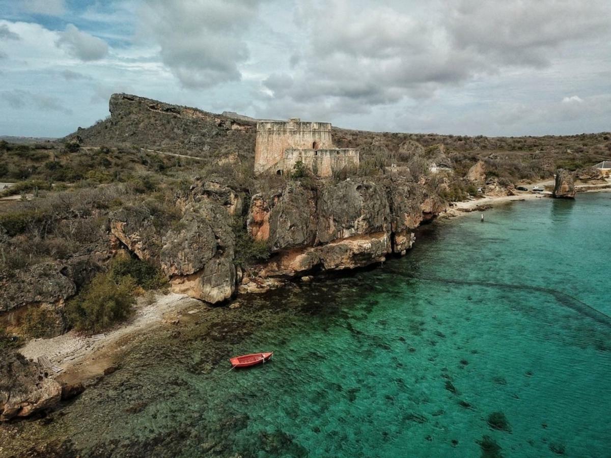
<path fill-rule="evenodd" d="M 381 131 L 611 130 L 609 0 L 0 0 L 0 135 L 113 92 Z"/>

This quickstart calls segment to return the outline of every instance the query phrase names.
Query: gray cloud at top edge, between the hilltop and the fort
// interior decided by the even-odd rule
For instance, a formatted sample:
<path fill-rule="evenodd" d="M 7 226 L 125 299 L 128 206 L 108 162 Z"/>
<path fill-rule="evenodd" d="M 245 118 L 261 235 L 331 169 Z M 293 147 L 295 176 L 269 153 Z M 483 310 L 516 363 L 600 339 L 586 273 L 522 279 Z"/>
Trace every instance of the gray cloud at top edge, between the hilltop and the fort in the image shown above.
<path fill-rule="evenodd" d="M 161 60 L 183 86 L 211 87 L 241 79 L 238 65 L 249 56 L 244 32 L 260 3 L 146 0 L 144 24 L 161 47 Z"/>

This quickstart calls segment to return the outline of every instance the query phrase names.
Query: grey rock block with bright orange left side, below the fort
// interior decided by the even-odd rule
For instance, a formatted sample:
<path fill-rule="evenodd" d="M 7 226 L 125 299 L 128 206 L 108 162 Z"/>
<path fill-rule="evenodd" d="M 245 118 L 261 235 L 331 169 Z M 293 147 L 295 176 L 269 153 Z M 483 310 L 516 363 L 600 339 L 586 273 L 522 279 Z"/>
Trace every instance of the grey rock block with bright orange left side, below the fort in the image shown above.
<path fill-rule="evenodd" d="M 267 241 L 274 252 L 313 244 L 316 238 L 315 193 L 291 182 L 281 191 L 255 195 L 248 230 L 255 240 Z"/>

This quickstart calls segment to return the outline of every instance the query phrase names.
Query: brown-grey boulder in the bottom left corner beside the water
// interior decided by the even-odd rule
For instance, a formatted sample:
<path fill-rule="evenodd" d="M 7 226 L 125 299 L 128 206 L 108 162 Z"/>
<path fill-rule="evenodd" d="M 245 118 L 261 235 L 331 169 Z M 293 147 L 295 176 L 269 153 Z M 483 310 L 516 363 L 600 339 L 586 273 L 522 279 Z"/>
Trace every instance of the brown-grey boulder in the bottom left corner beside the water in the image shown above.
<path fill-rule="evenodd" d="M 12 351 L 0 355 L 0 421 L 53 409 L 61 397 L 61 385 L 36 363 Z"/>

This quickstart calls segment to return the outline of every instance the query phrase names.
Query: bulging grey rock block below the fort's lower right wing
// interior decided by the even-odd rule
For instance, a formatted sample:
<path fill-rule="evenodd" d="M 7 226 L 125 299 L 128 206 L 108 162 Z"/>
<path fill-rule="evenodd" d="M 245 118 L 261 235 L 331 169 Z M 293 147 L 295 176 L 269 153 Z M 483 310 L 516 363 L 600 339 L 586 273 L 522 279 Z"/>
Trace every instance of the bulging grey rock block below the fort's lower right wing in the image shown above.
<path fill-rule="evenodd" d="M 324 187 L 318 197 L 320 243 L 358 234 L 389 232 L 390 209 L 384 187 L 359 179 Z"/>

